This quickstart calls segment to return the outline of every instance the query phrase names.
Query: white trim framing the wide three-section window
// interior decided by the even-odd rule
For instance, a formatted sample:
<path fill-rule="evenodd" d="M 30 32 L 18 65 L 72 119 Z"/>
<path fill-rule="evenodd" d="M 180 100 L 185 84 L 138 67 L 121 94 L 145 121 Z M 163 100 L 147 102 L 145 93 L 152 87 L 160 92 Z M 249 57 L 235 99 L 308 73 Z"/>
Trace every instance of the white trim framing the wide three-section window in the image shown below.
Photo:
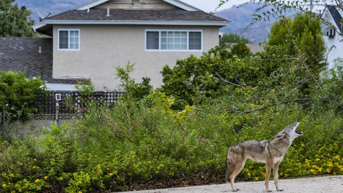
<path fill-rule="evenodd" d="M 186 50 L 162 50 L 161 49 L 161 32 L 162 31 L 166 31 L 166 32 L 169 32 L 169 31 L 172 31 L 172 32 L 187 32 L 187 49 Z M 146 49 L 146 32 L 159 32 L 159 49 Z M 201 32 L 201 49 L 200 50 L 190 50 L 189 49 L 189 33 L 188 32 Z M 145 32 L 144 32 L 144 50 L 145 51 L 159 51 L 159 52 L 202 52 L 202 49 L 203 49 L 203 44 L 204 44 L 204 41 L 203 41 L 203 30 L 186 30 L 186 29 L 183 29 L 183 30 L 179 30 L 179 29 L 146 29 Z"/>

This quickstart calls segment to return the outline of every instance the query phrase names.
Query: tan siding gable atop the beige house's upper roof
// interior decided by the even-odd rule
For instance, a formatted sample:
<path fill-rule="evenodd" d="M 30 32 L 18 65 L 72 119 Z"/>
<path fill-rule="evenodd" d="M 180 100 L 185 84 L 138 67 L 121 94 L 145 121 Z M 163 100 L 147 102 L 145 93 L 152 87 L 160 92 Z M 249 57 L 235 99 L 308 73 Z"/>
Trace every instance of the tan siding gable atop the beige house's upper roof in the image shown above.
<path fill-rule="evenodd" d="M 92 9 L 179 9 L 178 7 L 168 4 L 162 0 L 110 0 L 103 4 L 93 7 Z"/>

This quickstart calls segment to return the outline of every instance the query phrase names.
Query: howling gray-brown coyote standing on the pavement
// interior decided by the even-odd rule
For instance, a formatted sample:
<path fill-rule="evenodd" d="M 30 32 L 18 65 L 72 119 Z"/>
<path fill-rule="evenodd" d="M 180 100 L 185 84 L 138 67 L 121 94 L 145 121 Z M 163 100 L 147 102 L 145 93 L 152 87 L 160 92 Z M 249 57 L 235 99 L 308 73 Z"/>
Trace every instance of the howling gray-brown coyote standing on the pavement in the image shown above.
<path fill-rule="evenodd" d="M 225 180 L 229 187 L 229 183 L 231 183 L 232 191 L 239 190 L 234 187 L 235 178 L 243 169 L 247 159 L 265 163 L 265 192 L 271 192 L 268 184 L 272 167 L 276 190 L 282 191 L 283 189 L 280 189 L 278 184 L 279 164 L 291 146 L 292 141 L 303 134 L 303 132 L 296 131 L 298 125 L 299 121 L 285 127 L 281 132 L 276 134 L 272 141 L 245 141 L 230 147 L 226 156 Z"/>

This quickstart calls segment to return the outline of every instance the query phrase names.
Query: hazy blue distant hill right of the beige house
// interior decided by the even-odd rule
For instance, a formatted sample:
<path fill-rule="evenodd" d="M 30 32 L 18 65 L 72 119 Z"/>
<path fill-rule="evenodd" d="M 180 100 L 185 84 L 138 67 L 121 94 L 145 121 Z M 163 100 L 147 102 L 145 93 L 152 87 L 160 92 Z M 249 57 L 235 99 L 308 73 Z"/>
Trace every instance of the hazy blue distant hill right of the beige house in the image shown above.
<path fill-rule="evenodd" d="M 220 31 L 224 33 L 237 33 L 240 34 L 245 26 L 247 26 L 253 19 L 252 13 L 259 6 L 256 4 L 247 4 L 243 7 L 237 8 L 237 6 L 232 6 L 231 8 L 224 9 L 215 13 L 216 16 L 225 18 L 231 21 L 225 27 L 220 28 Z M 293 16 L 295 11 L 290 11 L 287 15 Z M 250 26 L 247 30 L 242 33 L 242 36 L 248 38 L 252 43 L 258 44 L 268 41 L 268 34 L 270 33 L 273 23 L 278 20 L 278 18 L 271 17 L 270 21 L 260 21 L 256 24 Z"/>

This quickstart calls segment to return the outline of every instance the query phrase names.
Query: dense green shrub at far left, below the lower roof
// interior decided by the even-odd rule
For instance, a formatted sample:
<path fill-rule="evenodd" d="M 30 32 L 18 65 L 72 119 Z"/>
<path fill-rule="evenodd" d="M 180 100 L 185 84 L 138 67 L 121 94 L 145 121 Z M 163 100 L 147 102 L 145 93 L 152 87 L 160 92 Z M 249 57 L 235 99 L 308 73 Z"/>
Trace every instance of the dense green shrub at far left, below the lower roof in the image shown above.
<path fill-rule="evenodd" d="M 27 79 L 25 73 L 0 71 L 0 111 L 12 114 L 13 118 L 27 118 L 37 109 L 37 96 L 45 96 L 46 87 L 40 78 Z"/>

